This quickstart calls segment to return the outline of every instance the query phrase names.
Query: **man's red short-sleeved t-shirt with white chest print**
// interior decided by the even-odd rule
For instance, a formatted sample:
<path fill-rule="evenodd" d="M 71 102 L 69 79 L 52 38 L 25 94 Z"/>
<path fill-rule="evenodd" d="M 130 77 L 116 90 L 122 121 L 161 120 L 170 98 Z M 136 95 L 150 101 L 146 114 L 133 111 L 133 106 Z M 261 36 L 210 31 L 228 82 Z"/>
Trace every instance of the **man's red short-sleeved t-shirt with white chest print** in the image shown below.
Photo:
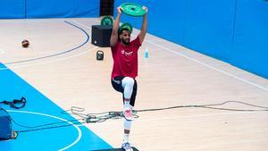
<path fill-rule="evenodd" d="M 136 78 L 138 76 L 138 47 L 141 46 L 139 38 L 123 46 L 119 41 L 112 46 L 113 71 L 112 78 L 116 76 Z"/>

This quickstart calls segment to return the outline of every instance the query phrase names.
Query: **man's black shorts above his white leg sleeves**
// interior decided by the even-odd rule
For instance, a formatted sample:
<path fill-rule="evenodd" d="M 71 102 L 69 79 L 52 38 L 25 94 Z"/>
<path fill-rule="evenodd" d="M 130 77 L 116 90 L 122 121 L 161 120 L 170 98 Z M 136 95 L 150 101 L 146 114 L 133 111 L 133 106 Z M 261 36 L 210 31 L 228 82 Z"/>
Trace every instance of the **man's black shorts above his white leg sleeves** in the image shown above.
<path fill-rule="evenodd" d="M 124 88 L 121 86 L 121 80 L 123 80 L 124 77 L 122 76 L 118 76 L 118 77 L 114 77 L 111 81 L 112 81 L 112 85 L 113 88 L 119 92 L 121 92 L 122 94 L 122 99 L 124 100 Z M 133 91 L 130 97 L 130 105 L 134 106 L 135 105 L 135 100 L 136 100 L 136 95 L 137 95 L 137 81 L 134 79 L 134 86 L 133 86 Z"/>

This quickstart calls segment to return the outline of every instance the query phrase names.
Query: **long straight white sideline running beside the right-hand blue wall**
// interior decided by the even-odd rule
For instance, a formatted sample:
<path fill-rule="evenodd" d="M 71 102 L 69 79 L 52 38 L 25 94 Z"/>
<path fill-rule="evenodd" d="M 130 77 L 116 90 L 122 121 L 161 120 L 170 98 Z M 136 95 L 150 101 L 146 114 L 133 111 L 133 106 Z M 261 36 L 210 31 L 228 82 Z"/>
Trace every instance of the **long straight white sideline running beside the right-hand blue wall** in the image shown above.
<path fill-rule="evenodd" d="M 133 34 L 133 35 L 134 35 L 134 34 Z M 137 35 L 135 35 L 135 36 L 137 36 Z M 251 81 L 249 81 L 249 80 L 244 80 L 244 79 L 242 79 L 242 78 L 240 78 L 240 77 L 238 77 L 238 76 L 236 76 L 236 75 L 231 74 L 231 73 L 228 72 L 228 71 L 222 71 L 222 70 L 220 70 L 220 69 L 218 69 L 218 68 L 216 68 L 216 67 L 214 67 L 214 66 L 211 66 L 211 65 L 209 65 L 209 64 L 207 64 L 207 63 L 203 63 L 203 62 L 201 62 L 201 61 L 199 61 L 199 60 L 197 60 L 197 59 L 194 59 L 194 58 L 192 58 L 192 57 L 190 57 L 190 56 L 188 56 L 188 55 L 183 55 L 183 54 L 181 54 L 181 53 L 179 53 L 179 52 L 177 52 L 177 51 L 174 51 L 174 50 L 172 50 L 172 49 L 170 49 L 170 48 L 168 48 L 168 47 L 166 47 L 166 46 L 158 45 L 158 44 L 156 44 L 156 43 L 154 43 L 154 42 L 152 42 L 152 41 L 150 41 L 150 40 L 145 39 L 145 41 L 146 41 L 147 43 L 149 43 L 149 44 L 152 44 L 152 45 L 161 47 L 161 48 L 163 48 L 164 50 L 167 50 L 167 51 L 169 51 L 169 52 L 171 52 L 171 53 L 173 53 L 173 54 L 175 54 L 175 55 L 180 55 L 180 56 L 185 57 L 185 58 L 187 58 L 187 59 L 189 59 L 189 60 L 191 60 L 191 61 L 193 61 L 193 62 L 195 62 L 195 63 L 199 63 L 199 64 L 202 64 L 202 65 L 205 65 L 206 67 L 208 67 L 208 68 L 210 68 L 210 69 L 212 69 L 212 70 L 214 70 L 214 71 L 220 71 L 220 72 L 222 72 L 223 74 L 229 75 L 229 76 L 232 77 L 232 78 L 235 78 L 235 79 L 240 80 L 240 81 L 243 81 L 243 82 L 245 82 L 245 83 L 247 83 L 247 84 L 249 84 L 249 85 L 255 86 L 255 87 L 257 87 L 257 88 L 261 88 L 261 89 L 263 89 L 263 90 L 265 90 L 265 91 L 268 91 L 268 88 L 264 88 L 264 87 L 262 87 L 262 86 L 260 86 L 260 85 L 258 85 L 258 84 L 255 84 L 254 82 L 251 82 Z"/>

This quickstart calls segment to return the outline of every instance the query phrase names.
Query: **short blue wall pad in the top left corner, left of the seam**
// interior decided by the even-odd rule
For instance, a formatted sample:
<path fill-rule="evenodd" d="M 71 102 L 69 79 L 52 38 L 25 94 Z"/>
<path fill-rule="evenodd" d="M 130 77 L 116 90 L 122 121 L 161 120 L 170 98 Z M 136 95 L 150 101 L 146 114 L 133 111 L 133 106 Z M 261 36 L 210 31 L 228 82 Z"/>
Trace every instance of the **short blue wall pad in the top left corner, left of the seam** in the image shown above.
<path fill-rule="evenodd" d="M 25 0 L 0 0 L 0 19 L 25 18 Z"/>

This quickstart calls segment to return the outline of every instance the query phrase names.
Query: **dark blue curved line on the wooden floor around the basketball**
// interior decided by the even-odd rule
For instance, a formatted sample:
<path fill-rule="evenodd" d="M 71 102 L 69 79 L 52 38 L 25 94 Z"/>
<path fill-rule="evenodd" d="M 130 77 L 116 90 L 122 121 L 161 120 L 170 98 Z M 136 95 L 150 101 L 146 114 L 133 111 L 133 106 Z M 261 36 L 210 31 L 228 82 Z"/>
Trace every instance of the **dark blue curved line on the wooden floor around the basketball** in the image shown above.
<path fill-rule="evenodd" d="M 22 61 L 17 61 L 17 62 L 11 62 L 11 63 L 3 63 L 3 64 L 4 65 L 7 65 L 7 64 L 15 64 L 15 63 L 27 63 L 27 62 L 31 62 L 31 61 L 36 61 L 36 60 L 41 60 L 41 59 L 45 59 L 45 58 L 49 58 L 49 57 L 54 57 L 54 56 L 57 56 L 57 55 L 63 55 L 63 54 L 70 53 L 71 51 L 76 50 L 76 49 L 80 48 L 81 46 L 84 46 L 84 45 L 86 45 L 88 43 L 89 35 L 88 35 L 87 31 L 85 31 L 84 29 L 82 29 L 82 28 L 80 28 L 80 27 L 72 24 L 69 21 L 64 21 L 64 22 L 70 24 L 73 27 L 76 27 L 76 28 L 82 30 L 86 34 L 87 40 L 84 43 L 82 43 L 80 46 L 73 47 L 70 50 L 67 50 L 67 51 L 64 51 L 64 52 L 61 52 L 61 53 L 58 53 L 58 54 L 46 55 L 46 56 L 41 56 L 41 57 L 38 57 L 38 58 L 33 58 L 33 59 L 28 59 L 28 60 L 22 60 Z"/>

